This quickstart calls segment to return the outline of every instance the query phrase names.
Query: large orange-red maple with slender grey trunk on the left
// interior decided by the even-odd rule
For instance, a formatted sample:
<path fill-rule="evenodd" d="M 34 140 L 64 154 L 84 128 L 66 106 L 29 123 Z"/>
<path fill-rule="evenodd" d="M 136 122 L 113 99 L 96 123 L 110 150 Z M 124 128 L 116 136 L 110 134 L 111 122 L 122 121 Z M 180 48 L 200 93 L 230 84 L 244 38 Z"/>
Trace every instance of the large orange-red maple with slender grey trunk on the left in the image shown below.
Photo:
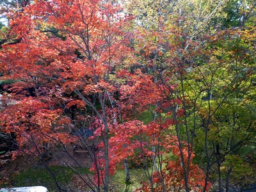
<path fill-rule="evenodd" d="M 125 63 L 130 52 L 120 30 L 129 19 L 119 12 L 119 6 L 111 2 L 35 1 L 10 15 L 10 34 L 20 42 L 3 45 L 1 50 L 2 78 L 15 81 L 9 88 L 19 103 L 12 104 L 10 112 L 7 108 L 2 111 L 13 118 L 10 122 L 2 118 L 4 131 L 13 130 L 20 138 L 21 132 L 38 134 L 28 118 L 43 113 L 47 105 L 50 111 L 43 116 L 49 123 L 51 111 L 57 110 L 55 119 L 61 116 L 61 106 L 90 109 L 86 124 L 93 129 L 97 119 L 104 141 L 104 175 L 99 174 L 104 191 L 109 184 L 109 125 L 116 119 L 116 87 L 111 74 L 116 65 Z M 24 117 L 11 115 L 15 108 L 27 106 L 28 100 L 35 100 L 32 111 L 28 109 Z M 54 130 L 52 123 L 39 127 L 42 132 Z"/>

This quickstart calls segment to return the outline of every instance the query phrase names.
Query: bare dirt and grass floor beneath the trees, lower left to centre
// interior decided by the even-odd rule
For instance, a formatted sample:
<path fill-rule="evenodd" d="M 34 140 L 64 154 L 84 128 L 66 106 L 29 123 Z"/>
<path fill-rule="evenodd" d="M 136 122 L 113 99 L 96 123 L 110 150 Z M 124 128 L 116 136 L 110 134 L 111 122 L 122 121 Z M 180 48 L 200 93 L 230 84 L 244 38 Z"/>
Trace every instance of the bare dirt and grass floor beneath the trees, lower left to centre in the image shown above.
<path fill-rule="evenodd" d="M 68 165 L 76 166 L 76 162 L 81 164 L 83 168 L 76 170 L 84 170 L 90 173 L 89 168 L 92 166 L 92 161 L 88 154 L 73 154 L 72 146 L 67 146 L 70 156 L 63 152 L 54 154 L 54 157 L 47 162 L 47 165 L 56 176 L 60 186 L 68 189 L 68 185 L 74 188 L 74 191 L 87 191 L 86 184 L 81 178 L 74 174 Z M 74 161 L 76 160 L 76 161 Z M 65 175 L 63 173 L 65 172 Z M 131 186 L 129 191 L 135 191 L 141 187 L 141 181 L 147 180 L 143 170 L 132 168 Z M 84 175 L 85 176 L 85 175 Z M 83 175 L 82 175 L 83 177 Z M 111 192 L 124 191 L 125 189 L 125 172 L 117 170 L 116 174 L 111 177 L 109 190 Z M 67 185 L 68 182 L 68 185 Z M 15 161 L 10 161 L 6 164 L 0 164 L 0 188 L 12 188 L 22 186 L 45 186 L 50 192 L 58 191 L 52 175 L 45 169 L 44 163 L 36 161 L 32 156 L 20 156 Z"/>

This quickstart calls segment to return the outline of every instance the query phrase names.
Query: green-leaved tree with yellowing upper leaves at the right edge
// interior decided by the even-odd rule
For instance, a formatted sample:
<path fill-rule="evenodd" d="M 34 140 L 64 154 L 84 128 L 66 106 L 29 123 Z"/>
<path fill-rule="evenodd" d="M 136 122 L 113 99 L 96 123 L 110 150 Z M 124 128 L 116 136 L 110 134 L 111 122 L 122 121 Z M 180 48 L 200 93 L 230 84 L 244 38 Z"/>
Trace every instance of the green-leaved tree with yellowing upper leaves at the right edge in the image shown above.
<path fill-rule="evenodd" d="M 248 113 L 254 114 L 255 109 L 247 106 L 247 101 L 245 101 L 250 100 L 249 98 L 252 99 L 250 95 L 255 90 L 255 86 L 252 84 L 255 78 L 254 53 L 252 47 L 248 46 L 248 44 L 251 44 L 250 40 L 253 41 L 253 38 L 255 38 L 251 33 L 252 31 L 250 31 L 251 29 L 253 28 L 246 29 L 246 32 L 233 29 L 216 35 L 220 35 L 222 38 L 216 38 L 216 44 L 211 42 L 211 51 L 215 52 L 215 54 L 212 54 L 214 63 L 211 64 L 211 68 L 207 67 L 203 70 L 200 67 L 200 71 L 197 72 L 198 74 L 202 72 L 205 83 L 208 82 L 209 84 L 208 88 L 205 87 L 204 91 L 201 90 L 201 93 L 204 94 L 202 97 L 204 102 L 208 100 L 207 106 L 205 104 L 201 105 L 201 112 L 204 115 L 208 113 L 208 120 L 205 119 L 205 116 L 199 116 L 202 118 L 202 127 L 205 128 L 205 125 L 208 124 L 206 126 L 208 128 L 205 128 L 207 135 L 206 132 L 204 133 L 207 136 L 205 145 L 209 146 L 210 152 L 210 154 L 207 154 L 207 161 L 211 161 L 210 164 L 216 163 L 218 167 L 219 190 L 223 188 L 221 186 L 221 163 L 225 162 L 226 156 L 237 156 L 239 148 L 243 148 L 243 145 L 252 145 L 248 143 L 252 143 L 254 138 L 255 118 L 248 115 Z M 223 33 L 225 33 L 225 36 L 223 36 Z M 239 36 L 236 36 L 238 34 Z M 230 38 L 233 35 L 236 36 L 236 40 Z M 220 50 L 222 50 L 221 54 Z M 244 55 L 245 52 L 246 55 Z M 211 74 L 212 71 L 214 76 Z M 208 77 L 204 76 L 204 72 L 207 72 Z M 211 73 L 209 74 L 209 72 Z M 209 77 L 211 81 L 209 81 Z M 194 77 L 194 79 L 196 78 Z M 202 82 L 204 81 L 199 81 L 198 87 L 203 88 L 204 83 Z M 189 86 L 192 87 L 192 84 L 191 81 Z M 193 88 L 193 90 L 196 89 Z M 252 100 L 248 102 L 252 104 Z M 244 106 L 247 106 L 245 111 Z M 246 116 L 246 123 L 244 122 L 244 115 Z M 202 145 L 202 143 L 200 144 Z M 227 190 L 231 172 L 232 168 L 229 167 L 229 172 L 226 173 L 227 177 L 225 178 L 225 188 Z"/>

